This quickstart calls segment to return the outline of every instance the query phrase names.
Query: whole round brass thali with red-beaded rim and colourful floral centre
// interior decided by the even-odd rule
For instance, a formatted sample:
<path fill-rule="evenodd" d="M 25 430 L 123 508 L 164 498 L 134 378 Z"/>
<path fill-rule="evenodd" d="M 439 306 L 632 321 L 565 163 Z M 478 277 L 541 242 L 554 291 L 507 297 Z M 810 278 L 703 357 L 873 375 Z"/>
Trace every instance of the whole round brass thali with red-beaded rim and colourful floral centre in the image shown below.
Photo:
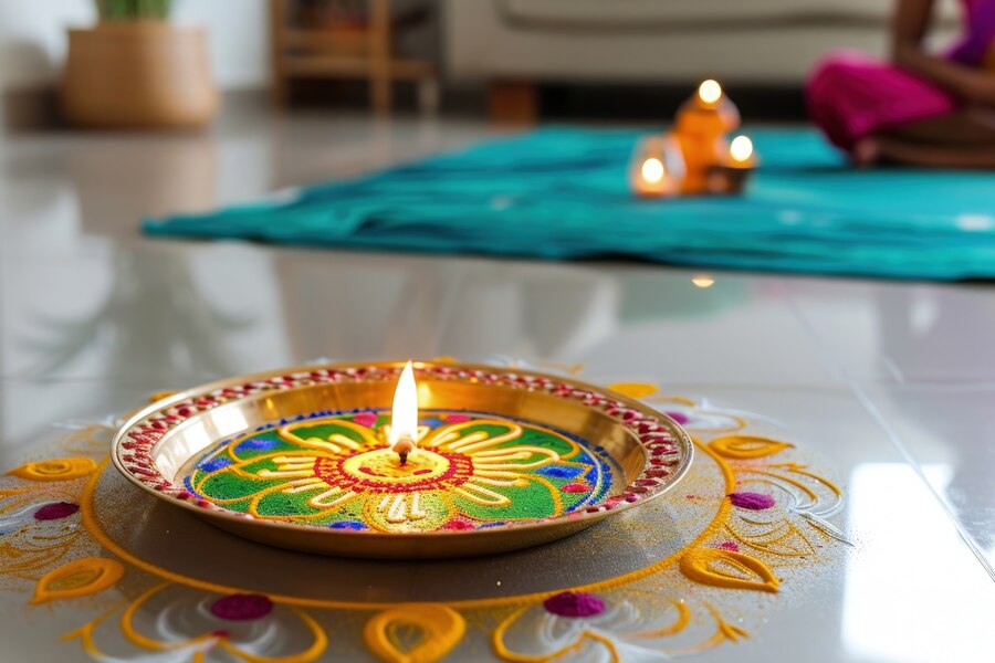
<path fill-rule="evenodd" d="M 569 536 L 672 488 L 693 448 L 607 389 L 490 366 L 415 362 L 420 441 L 385 436 L 404 362 L 307 366 L 159 400 L 114 438 L 156 497 L 261 543 L 365 558 L 495 554 Z"/>

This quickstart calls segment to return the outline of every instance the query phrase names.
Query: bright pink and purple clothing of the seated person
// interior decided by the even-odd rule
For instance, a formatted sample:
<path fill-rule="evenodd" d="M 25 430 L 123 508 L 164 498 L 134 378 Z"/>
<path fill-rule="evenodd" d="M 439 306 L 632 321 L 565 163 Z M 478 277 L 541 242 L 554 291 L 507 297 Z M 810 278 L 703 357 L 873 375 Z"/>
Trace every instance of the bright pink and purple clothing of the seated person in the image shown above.
<path fill-rule="evenodd" d="M 995 0 L 965 0 L 964 38 L 947 54 L 978 66 L 995 41 Z M 851 150 L 863 137 L 953 112 L 949 92 L 901 67 L 853 52 L 834 53 L 807 88 L 813 120 L 835 145 Z"/>

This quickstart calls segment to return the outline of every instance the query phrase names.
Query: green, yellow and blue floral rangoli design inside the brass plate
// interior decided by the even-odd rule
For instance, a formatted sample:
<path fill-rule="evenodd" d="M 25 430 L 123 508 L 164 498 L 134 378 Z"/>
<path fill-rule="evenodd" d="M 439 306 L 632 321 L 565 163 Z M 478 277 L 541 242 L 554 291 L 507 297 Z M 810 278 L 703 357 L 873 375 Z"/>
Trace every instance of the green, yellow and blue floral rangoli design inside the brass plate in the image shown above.
<path fill-rule="evenodd" d="M 607 453 L 506 419 L 428 411 L 400 465 L 389 412 L 318 412 L 223 442 L 184 483 L 255 518 L 317 527 L 433 532 L 561 516 L 601 499 Z"/>

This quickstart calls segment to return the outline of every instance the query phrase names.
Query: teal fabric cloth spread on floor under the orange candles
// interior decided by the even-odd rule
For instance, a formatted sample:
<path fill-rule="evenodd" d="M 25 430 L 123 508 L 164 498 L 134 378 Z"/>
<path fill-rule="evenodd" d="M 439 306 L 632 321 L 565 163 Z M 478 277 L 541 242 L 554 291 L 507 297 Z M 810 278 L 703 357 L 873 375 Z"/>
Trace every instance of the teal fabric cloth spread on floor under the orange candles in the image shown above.
<path fill-rule="evenodd" d="M 638 199 L 626 177 L 639 134 L 552 128 L 144 229 L 362 250 L 995 277 L 995 176 L 855 170 L 814 130 L 750 134 L 762 165 L 742 197 Z"/>

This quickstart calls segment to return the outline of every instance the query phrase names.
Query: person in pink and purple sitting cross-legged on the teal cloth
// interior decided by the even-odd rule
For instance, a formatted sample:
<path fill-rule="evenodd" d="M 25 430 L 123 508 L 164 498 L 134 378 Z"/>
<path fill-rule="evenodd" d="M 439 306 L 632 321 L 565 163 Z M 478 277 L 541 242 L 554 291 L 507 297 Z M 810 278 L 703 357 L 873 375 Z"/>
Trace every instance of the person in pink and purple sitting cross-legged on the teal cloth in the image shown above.
<path fill-rule="evenodd" d="M 935 2 L 899 0 L 891 64 L 837 53 L 809 81 L 813 119 L 858 164 L 995 168 L 995 0 L 963 0 L 944 56 L 923 45 Z"/>

